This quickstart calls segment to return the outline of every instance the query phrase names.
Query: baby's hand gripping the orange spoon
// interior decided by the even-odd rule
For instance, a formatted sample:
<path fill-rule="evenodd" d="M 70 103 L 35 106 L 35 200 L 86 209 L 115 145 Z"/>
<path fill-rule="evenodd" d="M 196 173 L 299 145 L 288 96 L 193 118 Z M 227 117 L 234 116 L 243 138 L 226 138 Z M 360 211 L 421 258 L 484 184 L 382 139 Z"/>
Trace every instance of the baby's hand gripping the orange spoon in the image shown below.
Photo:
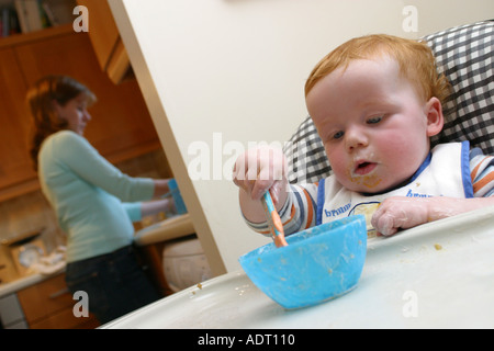
<path fill-rule="evenodd" d="M 279 203 L 280 192 L 287 185 L 285 167 L 285 157 L 280 149 L 267 146 L 248 149 L 235 161 L 233 181 L 252 201 L 259 202 L 271 190 L 274 203 Z"/>

